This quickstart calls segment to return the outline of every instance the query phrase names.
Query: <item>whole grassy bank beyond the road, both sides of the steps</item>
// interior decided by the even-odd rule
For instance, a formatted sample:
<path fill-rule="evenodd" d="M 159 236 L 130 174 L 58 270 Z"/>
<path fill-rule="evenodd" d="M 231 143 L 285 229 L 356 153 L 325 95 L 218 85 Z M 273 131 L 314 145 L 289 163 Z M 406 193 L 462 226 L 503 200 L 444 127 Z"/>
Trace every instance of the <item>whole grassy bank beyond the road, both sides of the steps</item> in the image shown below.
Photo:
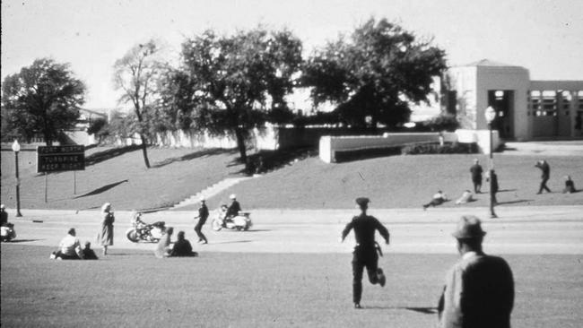
<path fill-rule="evenodd" d="M 50 174 L 45 203 L 45 177 L 35 173 L 35 153 L 22 151 L 22 208 L 83 210 L 105 202 L 119 210 L 157 208 L 178 203 L 225 177 L 240 176 L 243 169 L 236 162 L 236 151 L 151 148 L 148 153 L 151 169 L 144 168 L 139 150 L 112 153 L 91 149 L 87 151 L 90 165 L 76 172 L 76 194 L 73 172 Z M 440 189 L 453 199 L 442 206 L 457 206 L 455 199 L 472 189 L 469 167 L 474 157 L 487 168 L 484 155 L 397 155 L 339 164 L 326 164 L 311 156 L 233 186 L 212 197 L 208 205 L 215 208 L 236 193 L 243 209 L 251 210 L 352 208 L 352 200 L 361 195 L 369 196 L 376 208 L 421 208 Z M 546 158 L 551 165 L 548 186 L 553 194 L 535 194 L 540 181 L 535 160 L 538 158 L 528 155 L 494 155 L 500 206 L 583 203 L 583 193 L 561 194 L 562 177 L 568 174 L 575 186 L 583 188 L 583 157 Z M 484 181 L 483 192 L 488 190 Z M 2 151 L 2 202 L 15 206 L 12 151 Z M 489 195 L 478 194 L 476 202 L 461 206 L 488 204 Z"/>

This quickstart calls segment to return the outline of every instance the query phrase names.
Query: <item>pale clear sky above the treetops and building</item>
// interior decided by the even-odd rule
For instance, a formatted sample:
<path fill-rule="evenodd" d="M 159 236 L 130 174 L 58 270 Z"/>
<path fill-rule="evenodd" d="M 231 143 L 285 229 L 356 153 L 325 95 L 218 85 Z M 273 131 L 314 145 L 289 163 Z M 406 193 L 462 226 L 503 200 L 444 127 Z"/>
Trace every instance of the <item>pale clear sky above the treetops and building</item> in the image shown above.
<path fill-rule="evenodd" d="M 159 39 L 169 56 L 207 29 L 287 28 L 305 55 L 370 17 L 445 49 L 448 65 L 483 58 L 526 67 L 531 80 L 583 80 L 581 0 L 3 0 L 1 76 L 36 58 L 69 63 L 88 87 L 84 108 L 116 108 L 112 66 Z"/>

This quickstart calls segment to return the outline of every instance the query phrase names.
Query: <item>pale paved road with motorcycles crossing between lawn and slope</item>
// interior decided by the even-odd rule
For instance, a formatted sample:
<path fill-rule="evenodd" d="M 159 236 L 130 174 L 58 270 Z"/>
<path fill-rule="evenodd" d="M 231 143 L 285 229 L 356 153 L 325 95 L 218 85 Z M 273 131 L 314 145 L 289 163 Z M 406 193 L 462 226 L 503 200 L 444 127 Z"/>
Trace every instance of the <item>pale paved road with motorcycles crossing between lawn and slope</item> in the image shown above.
<path fill-rule="evenodd" d="M 387 253 L 451 254 L 456 252 L 451 232 L 463 214 L 475 214 L 483 219 L 487 232 L 484 249 L 491 254 L 583 254 L 583 206 L 499 207 L 499 219 L 489 219 L 486 208 L 463 209 L 370 209 L 391 233 Z M 22 210 L 24 217 L 10 221 L 15 224 L 16 242 L 57 246 L 67 229 L 74 227 L 81 241 L 95 241 L 99 230 L 99 211 Z M 175 232 L 184 230 L 199 252 L 252 253 L 349 253 L 352 233 L 339 242 L 340 232 L 354 211 L 255 210 L 254 226 L 249 231 L 213 231 L 210 220 L 204 233 L 208 245 L 196 245 L 194 216 L 189 211 L 159 211 L 144 215 L 144 221 L 164 220 Z M 116 249 L 153 250 L 153 244 L 131 243 L 125 237 L 130 228 L 130 212 L 117 211 L 115 223 Z M 94 245 L 95 246 L 95 245 Z"/>

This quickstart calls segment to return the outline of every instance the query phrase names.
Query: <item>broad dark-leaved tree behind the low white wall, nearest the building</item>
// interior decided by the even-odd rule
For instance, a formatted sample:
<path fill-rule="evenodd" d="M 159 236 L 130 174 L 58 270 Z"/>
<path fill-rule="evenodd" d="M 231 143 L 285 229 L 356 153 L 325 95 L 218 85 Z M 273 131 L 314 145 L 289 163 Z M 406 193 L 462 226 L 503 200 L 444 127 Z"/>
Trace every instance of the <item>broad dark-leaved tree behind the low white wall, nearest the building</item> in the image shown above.
<path fill-rule="evenodd" d="M 302 84 L 312 87 L 316 105 L 337 105 L 338 119 L 348 125 L 375 128 L 409 120 L 408 101 L 428 101 L 433 77 L 447 68 L 445 52 L 417 41 L 412 32 L 382 19 L 370 19 L 310 56 Z"/>

